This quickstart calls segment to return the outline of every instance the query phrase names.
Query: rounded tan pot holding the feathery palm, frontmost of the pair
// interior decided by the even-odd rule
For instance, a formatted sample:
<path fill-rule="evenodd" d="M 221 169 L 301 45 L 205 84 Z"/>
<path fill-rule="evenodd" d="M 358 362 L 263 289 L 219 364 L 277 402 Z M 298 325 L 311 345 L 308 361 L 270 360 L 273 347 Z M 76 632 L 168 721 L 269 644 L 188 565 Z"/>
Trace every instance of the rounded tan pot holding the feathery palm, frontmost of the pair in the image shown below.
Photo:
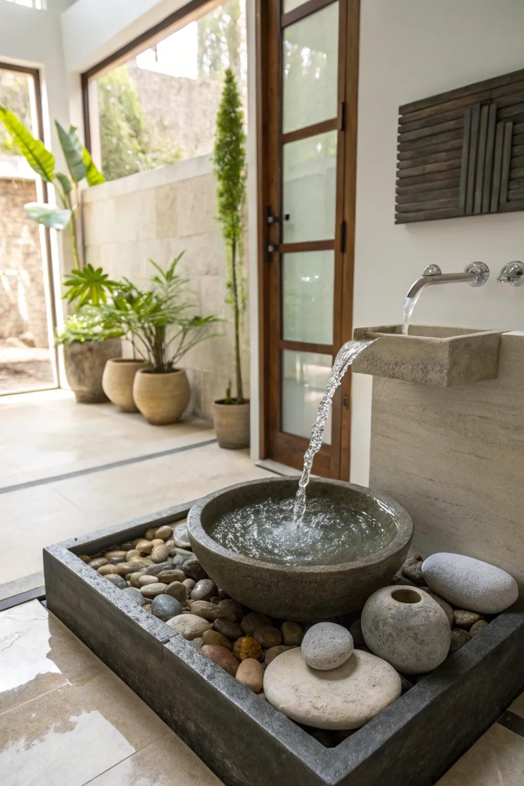
<path fill-rule="evenodd" d="M 133 399 L 149 423 L 176 423 L 189 404 L 189 382 L 183 369 L 165 374 L 139 369 L 134 377 Z"/>

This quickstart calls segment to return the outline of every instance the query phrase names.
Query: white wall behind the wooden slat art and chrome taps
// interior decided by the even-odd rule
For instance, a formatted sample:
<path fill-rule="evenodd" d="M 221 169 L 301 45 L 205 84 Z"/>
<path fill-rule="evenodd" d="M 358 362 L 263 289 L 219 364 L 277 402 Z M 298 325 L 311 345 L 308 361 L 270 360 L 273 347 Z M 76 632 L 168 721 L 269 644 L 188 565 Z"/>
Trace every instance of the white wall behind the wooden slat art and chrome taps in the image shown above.
<path fill-rule="evenodd" d="M 428 264 L 457 271 L 480 259 L 484 287 L 427 289 L 413 324 L 524 329 L 524 288 L 496 281 L 524 259 L 524 212 L 394 225 L 399 105 L 524 68 L 522 30 L 522 0 L 361 0 L 354 325 L 401 321 Z M 371 382 L 354 376 L 355 483 L 368 483 Z"/>

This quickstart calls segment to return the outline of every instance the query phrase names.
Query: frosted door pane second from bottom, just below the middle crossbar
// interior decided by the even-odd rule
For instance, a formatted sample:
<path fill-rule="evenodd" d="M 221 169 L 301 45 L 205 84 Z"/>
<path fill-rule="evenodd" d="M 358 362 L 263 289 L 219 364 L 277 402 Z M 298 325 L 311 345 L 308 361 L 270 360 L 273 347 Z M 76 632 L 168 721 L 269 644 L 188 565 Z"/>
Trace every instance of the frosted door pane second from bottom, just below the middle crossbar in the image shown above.
<path fill-rule="evenodd" d="M 332 251 L 284 254 L 282 259 L 282 338 L 333 343 Z"/>

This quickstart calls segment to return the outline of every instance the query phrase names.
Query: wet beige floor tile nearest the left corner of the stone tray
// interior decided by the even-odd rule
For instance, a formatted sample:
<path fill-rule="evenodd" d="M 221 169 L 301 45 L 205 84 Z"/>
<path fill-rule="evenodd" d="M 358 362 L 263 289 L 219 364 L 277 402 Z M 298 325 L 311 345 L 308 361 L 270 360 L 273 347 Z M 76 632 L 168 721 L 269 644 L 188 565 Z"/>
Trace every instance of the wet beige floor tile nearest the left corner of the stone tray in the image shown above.
<path fill-rule="evenodd" d="M 38 601 L 0 612 L 0 715 L 100 666 Z"/>

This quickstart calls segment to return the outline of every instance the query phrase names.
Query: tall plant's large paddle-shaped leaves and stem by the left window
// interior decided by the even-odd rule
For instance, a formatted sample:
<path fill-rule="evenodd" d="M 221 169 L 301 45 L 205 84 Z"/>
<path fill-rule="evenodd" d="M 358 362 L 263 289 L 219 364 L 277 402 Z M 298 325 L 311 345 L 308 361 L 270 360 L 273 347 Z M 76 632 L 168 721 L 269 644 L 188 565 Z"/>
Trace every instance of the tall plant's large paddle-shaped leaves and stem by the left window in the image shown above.
<path fill-rule="evenodd" d="M 49 204 L 30 202 L 24 206 L 24 210 L 30 219 L 49 227 L 49 229 L 59 231 L 69 229 L 71 249 L 75 260 L 74 272 L 78 273 L 80 269 L 77 232 L 79 182 L 85 178 L 88 185 L 98 185 L 104 182 L 104 175 L 97 170 L 90 152 L 80 142 L 75 126 L 70 126 L 66 131 L 55 120 L 60 147 L 68 165 L 70 175 L 68 177 L 63 172 L 55 171 L 53 153 L 46 149 L 40 139 L 32 136 L 24 123 L 13 112 L 1 104 L 0 120 L 13 137 L 16 148 L 24 156 L 29 166 L 40 175 L 43 181 L 54 186 L 60 204 L 59 208 L 53 208 Z"/>

